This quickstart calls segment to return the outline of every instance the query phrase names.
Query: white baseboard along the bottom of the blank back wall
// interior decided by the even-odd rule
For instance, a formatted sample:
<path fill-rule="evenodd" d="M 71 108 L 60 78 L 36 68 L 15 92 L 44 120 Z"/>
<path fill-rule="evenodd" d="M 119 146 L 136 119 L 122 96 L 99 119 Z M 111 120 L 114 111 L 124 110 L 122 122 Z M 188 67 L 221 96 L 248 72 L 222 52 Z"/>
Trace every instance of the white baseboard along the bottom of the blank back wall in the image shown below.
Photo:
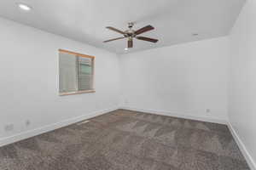
<path fill-rule="evenodd" d="M 207 116 L 188 116 L 185 114 L 172 113 L 170 111 L 145 110 L 145 109 L 137 109 L 132 107 L 125 107 L 125 106 L 121 107 L 120 109 L 130 110 L 130 111 L 141 111 L 141 112 L 152 113 L 152 114 L 163 115 L 163 116 L 174 116 L 174 117 L 185 118 L 185 119 L 190 119 L 195 121 L 215 122 L 215 123 L 225 124 L 225 125 L 228 124 L 226 120 L 207 117 Z"/>

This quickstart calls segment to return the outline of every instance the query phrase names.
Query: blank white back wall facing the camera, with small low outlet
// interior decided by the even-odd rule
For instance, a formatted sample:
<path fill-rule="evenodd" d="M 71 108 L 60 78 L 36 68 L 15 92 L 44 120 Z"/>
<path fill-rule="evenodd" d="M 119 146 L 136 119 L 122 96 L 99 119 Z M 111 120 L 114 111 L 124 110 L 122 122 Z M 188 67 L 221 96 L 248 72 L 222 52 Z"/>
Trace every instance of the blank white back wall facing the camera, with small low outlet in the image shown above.
<path fill-rule="evenodd" d="M 228 42 L 220 37 L 122 55 L 123 106 L 226 120 Z"/>

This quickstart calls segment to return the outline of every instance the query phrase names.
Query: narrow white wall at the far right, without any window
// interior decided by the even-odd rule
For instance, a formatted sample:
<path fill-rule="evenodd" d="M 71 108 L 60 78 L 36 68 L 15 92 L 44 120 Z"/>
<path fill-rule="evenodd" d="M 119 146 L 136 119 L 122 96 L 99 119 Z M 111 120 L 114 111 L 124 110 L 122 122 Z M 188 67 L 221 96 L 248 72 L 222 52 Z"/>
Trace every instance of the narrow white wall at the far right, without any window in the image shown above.
<path fill-rule="evenodd" d="M 230 32 L 229 118 L 256 169 L 256 1 L 247 0 Z"/>

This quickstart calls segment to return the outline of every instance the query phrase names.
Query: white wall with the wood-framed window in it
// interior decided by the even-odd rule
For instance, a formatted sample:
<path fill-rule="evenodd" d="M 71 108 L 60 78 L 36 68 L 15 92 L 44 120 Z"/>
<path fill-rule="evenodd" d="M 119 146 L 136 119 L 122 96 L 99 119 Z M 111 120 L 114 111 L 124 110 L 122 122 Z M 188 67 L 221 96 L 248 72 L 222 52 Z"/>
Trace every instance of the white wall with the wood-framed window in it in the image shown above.
<path fill-rule="evenodd" d="M 116 54 L 0 18 L 0 142 L 4 137 L 119 105 Z M 95 94 L 58 95 L 58 49 L 96 56 Z M 31 121 L 29 127 L 26 120 Z M 13 123 L 12 132 L 3 130 Z"/>

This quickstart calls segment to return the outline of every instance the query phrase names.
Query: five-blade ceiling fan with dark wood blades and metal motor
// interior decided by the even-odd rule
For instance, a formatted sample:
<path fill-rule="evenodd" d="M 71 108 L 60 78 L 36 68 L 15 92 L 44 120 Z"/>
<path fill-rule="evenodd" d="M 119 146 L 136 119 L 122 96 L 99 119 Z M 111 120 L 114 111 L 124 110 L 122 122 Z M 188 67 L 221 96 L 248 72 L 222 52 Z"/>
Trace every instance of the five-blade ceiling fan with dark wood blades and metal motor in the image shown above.
<path fill-rule="evenodd" d="M 112 26 L 107 26 L 106 28 L 108 28 L 109 30 L 112 30 L 112 31 L 119 32 L 120 34 L 123 35 L 123 37 L 113 38 L 113 39 L 110 39 L 110 40 L 107 40 L 104 42 L 112 42 L 114 40 L 127 38 L 128 39 L 128 48 L 133 47 L 133 38 L 136 38 L 138 40 L 147 41 L 147 42 L 154 42 L 154 43 L 158 42 L 158 40 L 154 39 L 154 38 L 138 36 L 138 35 L 142 34 L 143 32 L 154 30 L 153 26 L 150 26 L 150 25 L 144 26 L 143 28 L 141 28 L 137 31 L 132 30 L 132 26 L 134 26 L 133 22 L 128 23 L 129 29 L 126 31 L 119 31 L 118 29 L 113 28 Z"/>

